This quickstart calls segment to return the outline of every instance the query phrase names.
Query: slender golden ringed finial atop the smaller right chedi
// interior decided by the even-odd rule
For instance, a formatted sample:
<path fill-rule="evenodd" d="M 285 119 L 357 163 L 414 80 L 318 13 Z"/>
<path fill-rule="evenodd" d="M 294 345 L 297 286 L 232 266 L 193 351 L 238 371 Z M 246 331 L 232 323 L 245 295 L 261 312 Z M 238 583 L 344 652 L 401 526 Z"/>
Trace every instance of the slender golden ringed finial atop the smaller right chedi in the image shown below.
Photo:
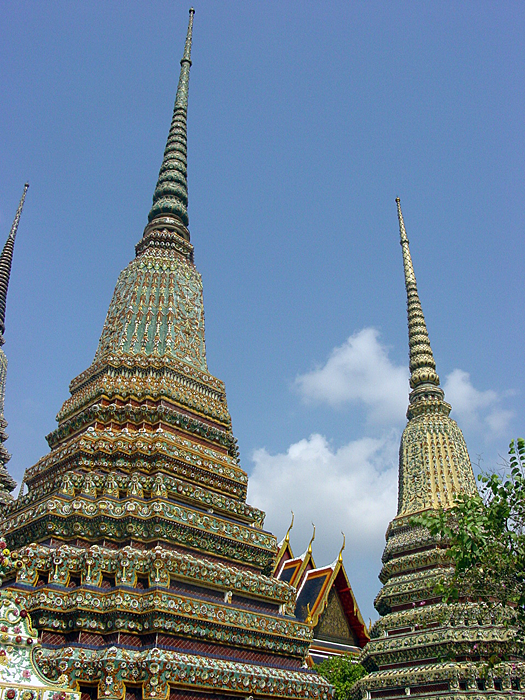
<path fill-rule="evenodd" d="M 430 340 L 428 337 L 425 317 L 419 300 L 417 291 L 416 276 L 410 256 L 408 237 L 401 212 L 401 200 L 396 198 L 397 216 L 399 218 L 399 233 L 401 237 L 401 248 L 403 250 L 403 267 L 405 270 L 405 287 L 407 292 L 408 311 L 408 344 L 410 348 L 410 386 L 412 393 L 410 401 L 414 399 L 414 390 L 421 387 L 432 389 L 443 398 L 443 391 L 439 388 L 439 377 L 436 372 L 436 363 Z"/>

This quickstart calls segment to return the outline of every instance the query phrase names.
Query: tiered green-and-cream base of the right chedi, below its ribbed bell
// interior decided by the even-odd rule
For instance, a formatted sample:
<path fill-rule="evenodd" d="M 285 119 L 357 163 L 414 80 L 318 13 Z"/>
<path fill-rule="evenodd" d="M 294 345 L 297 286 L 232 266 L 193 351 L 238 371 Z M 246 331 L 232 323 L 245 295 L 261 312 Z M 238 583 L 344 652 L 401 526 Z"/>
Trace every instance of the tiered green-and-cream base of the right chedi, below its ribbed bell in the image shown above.
<path fill-rule="evenodd" d="M 504 606 L 446 604 L 435 586 L 450 574 L 446 548 L 410 517 L 387 532 L 376 608 L 384 615 L 361 655 L 370 675 L 352 691 L 362 698 L 524 697 L 525 663 Z"/>

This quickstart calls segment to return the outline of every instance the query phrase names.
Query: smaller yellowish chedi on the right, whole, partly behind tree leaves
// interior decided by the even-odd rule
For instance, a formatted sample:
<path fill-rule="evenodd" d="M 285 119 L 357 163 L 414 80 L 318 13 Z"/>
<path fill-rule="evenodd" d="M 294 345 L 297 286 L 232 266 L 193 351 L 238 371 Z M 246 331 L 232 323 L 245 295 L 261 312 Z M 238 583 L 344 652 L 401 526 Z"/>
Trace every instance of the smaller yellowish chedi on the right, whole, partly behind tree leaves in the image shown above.
<path fill-rule="evenodd" d="M 436 584 L 451 573 L 446 543 L 416 524 L 423 512 L 449 508 L 460 494 L 475 494 L 467 446 L 439 385 L 417 290 L 401 203 L 396 199 L 408 311 L 410 397 L 399 450 L 397 515 L 386 533 L 383 588 L 375 607 L 381 619 L 361 663 L 371 672 L 352 691 L 356 698 L 490 696 L 517 688 L 521 663 L 487 673 L 480 660 L 512 658 L 504 613 L 471 602 L 445 604 Z M 466 696 L 465 696 L 466 697 Z"/>

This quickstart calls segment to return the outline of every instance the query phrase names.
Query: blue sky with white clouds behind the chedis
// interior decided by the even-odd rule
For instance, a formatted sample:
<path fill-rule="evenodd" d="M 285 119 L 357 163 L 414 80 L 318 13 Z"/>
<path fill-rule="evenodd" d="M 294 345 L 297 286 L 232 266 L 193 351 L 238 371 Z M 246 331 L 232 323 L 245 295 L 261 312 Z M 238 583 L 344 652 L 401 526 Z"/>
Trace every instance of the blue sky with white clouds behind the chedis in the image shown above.
<path fill-rule="evenodd" d="M 473 461 L 524 434 L 520 2 L 196 4 L 190 231 L 210 371 L 250 500 L 345 562 L 365 617 L 407 401 L 401 197 L 438 372 Z M 47 451 L 151 204 L 187 3 L 3 4 L 0 227 L 10 469 Z"/>

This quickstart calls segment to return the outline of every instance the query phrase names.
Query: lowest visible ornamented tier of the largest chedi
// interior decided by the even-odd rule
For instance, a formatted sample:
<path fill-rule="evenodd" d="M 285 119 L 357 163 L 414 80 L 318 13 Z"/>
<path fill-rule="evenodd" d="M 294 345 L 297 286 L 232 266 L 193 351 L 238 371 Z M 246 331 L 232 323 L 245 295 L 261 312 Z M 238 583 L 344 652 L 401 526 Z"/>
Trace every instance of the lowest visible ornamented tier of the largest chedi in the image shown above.
<path fill-rule="evenodd" d="M 65 675 L 71 685 L 78 683 L 82 697 L 93 699 L 332 698 L 332 687 L 308 669 L 291 671 L 158 648 L 43 648 L 36 658 L 46 676 Z"/>

